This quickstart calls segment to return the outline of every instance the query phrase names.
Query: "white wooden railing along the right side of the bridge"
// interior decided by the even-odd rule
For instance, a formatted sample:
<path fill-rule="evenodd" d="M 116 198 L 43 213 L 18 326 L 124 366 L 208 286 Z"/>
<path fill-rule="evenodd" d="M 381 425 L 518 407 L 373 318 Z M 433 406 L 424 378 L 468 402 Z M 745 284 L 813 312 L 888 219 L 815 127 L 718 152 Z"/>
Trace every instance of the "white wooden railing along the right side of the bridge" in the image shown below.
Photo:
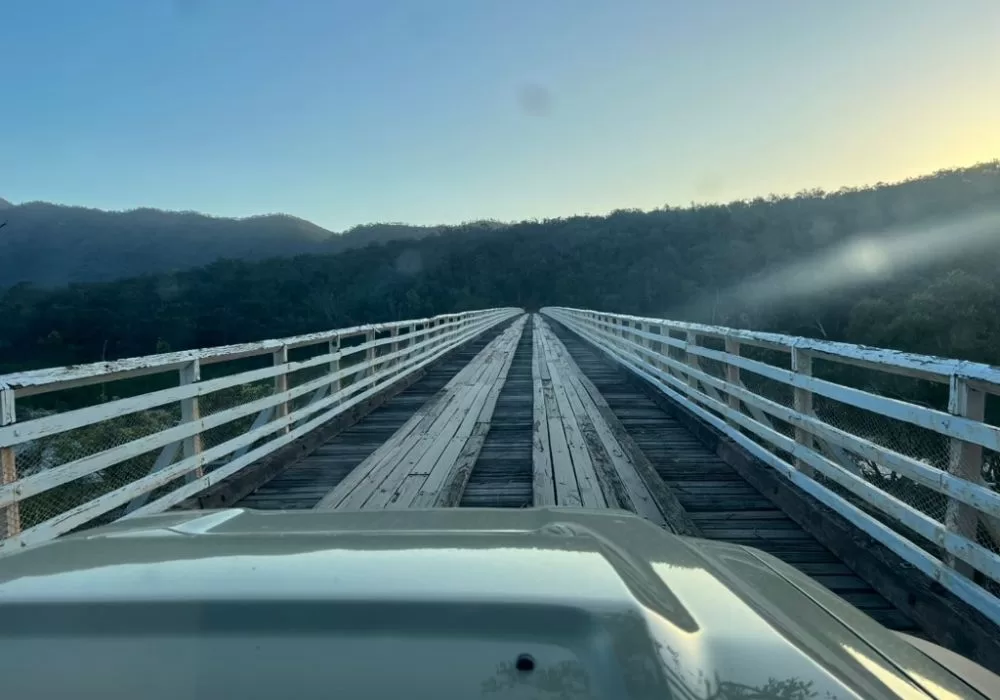
<path fill-rule="evenodd" d="M 542 313 L 1000 623 L 1000 428 L 985 421 L 1000 369 L 666 319 Z"/>

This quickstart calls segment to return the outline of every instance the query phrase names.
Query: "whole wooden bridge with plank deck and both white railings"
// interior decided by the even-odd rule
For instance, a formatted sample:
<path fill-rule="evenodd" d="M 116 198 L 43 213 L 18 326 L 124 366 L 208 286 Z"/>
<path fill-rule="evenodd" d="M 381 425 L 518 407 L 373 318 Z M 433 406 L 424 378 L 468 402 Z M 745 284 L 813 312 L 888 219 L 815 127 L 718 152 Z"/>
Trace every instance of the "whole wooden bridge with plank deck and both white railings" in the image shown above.
<path fill-rule="evenodd" d="M 172 508 L 614 508 L 1000 670 L 1000 370 L 565 308 L 0 377 L 0 554 Z"/>

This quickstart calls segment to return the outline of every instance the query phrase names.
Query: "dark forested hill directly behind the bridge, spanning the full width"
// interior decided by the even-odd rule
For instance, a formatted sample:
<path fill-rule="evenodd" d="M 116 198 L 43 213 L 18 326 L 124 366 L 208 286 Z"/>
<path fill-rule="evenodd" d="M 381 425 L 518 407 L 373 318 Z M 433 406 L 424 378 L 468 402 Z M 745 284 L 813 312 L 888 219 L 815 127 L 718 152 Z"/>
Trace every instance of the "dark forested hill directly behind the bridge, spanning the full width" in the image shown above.
<path fill-rule="evenodd" d="M 1000 164 L 896 185 L 470 226 L 0 298 L 0 371 L 561 304 L 1000 364 Z"/>

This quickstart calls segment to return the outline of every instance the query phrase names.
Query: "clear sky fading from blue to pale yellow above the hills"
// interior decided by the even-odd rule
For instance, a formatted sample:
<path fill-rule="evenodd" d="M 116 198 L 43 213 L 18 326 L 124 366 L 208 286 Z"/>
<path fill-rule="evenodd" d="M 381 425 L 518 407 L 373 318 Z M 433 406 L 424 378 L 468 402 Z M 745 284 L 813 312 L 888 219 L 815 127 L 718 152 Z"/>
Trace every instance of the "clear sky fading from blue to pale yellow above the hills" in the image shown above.
<path fill-rule="evenodd" d="M 332 229 L 1000 156 L 1000 0 L 0 0 L 0 197 Z"/>

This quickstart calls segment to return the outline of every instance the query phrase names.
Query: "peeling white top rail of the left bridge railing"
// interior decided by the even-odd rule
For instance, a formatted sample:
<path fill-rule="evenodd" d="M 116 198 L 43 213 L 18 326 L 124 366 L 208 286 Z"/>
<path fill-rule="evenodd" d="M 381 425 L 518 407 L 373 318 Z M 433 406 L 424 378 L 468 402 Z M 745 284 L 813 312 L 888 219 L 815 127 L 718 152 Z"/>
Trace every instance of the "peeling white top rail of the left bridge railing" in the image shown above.
<path fill-rule="evenodd" d="M 201 364 L 237 360 L 243 357 L 264 355 L 282 347 L 289 349 L 314 345 L 337 338 L 349 338 L 363 335 L 369 331 L 382 333 L 394 328 L 408 327 L 412 324 L 448 321 L 466 316 L 483 315 L 491 312 L 504 311 L 504 308 L 466 311 L 461 313 L 440 314 L 428 318 L 406 319 L 388 323 L 368 323 L 349 328 L 337 328 L 316 333 L 290 336 L 287 338 L 272 338 L 251 343 L 235 345 L 220 345 L 197 350 L 180 350 L 177 352 L 160 353 L 128 357 L 109 362 L 92 362 L 65 367 L 48 367 L 45 369 L 26 370 L 12 374 L 0 375 L 0 388 L 13 390 L 18 396 L 31 395 L 55 389 L 69 388 L 91 384 L 94 381 L 107 381 L 112 378 L 137 377 L 154 372 L 164 372 L 186 365 L 194 360 Z"/>

